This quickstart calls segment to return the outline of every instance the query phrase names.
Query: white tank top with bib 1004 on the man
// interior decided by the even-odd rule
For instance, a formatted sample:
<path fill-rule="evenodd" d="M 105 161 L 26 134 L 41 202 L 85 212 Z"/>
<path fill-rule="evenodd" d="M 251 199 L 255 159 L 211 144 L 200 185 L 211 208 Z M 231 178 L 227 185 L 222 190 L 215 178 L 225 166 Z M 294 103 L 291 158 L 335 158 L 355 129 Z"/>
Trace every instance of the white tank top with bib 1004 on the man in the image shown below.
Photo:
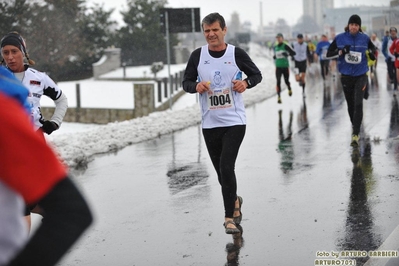
<path fill-rule="evenodd" d="M 208 45 L 202 46 L 198 64 L 198 81 L 210 82 L 211 89 L 199 96 L 202 113 L 202 128 L 245 125 L 245 106 L 242 94 L 233 91 L 233 80 L 241 80 L 235 47 L 228 44 L 225 54 L 214 58 Z"/>

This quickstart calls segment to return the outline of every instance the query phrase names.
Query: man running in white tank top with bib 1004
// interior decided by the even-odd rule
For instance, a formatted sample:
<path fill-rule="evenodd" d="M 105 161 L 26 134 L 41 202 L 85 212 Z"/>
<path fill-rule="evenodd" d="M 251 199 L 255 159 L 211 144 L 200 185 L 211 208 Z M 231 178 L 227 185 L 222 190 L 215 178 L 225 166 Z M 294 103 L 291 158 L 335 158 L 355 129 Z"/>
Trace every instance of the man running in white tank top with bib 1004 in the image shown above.
<path fill-rule="evenodd" d="M 234 169 L 246 129 L 241 93 L 261 82 L 262 75 L 243 49 L 225 43 L 227 27 L 220 14 L 206 16 L 202 29 L 208 45 L 191 54 L 183 89 L 199 93 L 202 133 L 222 188 L 225 232 L 236 234 L 243 200 L 237 196 Z"/>

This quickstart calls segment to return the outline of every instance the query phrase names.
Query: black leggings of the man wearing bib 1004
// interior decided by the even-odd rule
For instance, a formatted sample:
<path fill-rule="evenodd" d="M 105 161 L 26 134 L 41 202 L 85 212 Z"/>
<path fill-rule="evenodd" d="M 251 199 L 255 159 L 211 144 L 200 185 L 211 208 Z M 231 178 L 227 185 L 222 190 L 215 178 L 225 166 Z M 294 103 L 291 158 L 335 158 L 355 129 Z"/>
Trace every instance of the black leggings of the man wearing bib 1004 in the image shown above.
<path fill-rule="evenodd" d="M 235 162 L 245 136 L 245 125 L 203 129 L 206 147 L 222 187 L 225 217 L 233 218 L 237 199 Z"/>

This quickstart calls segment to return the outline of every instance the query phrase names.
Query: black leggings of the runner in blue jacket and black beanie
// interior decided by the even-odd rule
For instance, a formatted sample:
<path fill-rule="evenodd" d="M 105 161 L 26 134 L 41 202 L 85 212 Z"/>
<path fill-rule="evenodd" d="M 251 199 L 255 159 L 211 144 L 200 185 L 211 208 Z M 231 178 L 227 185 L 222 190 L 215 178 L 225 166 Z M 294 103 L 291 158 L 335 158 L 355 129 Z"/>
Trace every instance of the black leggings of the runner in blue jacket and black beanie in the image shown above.
<path fill-rule="evenodd" d="M 348 113 L 351 119 L 354 135 L 359 135 L 363 120 L 363 97 L 368 82 L 367 75 L 363 76 L 341 76 Z"/>

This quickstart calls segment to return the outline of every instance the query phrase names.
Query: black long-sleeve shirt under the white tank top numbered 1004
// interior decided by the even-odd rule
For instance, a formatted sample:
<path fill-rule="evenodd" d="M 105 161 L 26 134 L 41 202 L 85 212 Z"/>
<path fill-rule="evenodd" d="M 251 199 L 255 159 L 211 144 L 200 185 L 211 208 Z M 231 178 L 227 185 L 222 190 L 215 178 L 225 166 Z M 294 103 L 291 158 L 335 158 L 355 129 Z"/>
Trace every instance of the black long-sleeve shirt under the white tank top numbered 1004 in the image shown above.
<path fill-rule="evenodd" d="M 226 48 L 227 49 L 227 48 Z M 220 58 L 224 55 L 226 50 L 211 51 L 209 54 L 212 57 Z M 196 86 L 198 84 L 198 64 L 200 61 L 201 47 L 194 50 L 187 62 L 186 70 L 183 78 L 183 89 L 189 93 L 196 93 Z M 241 48 L 235 47 L 235 60 L 238 68 L 247 75 L 248 89 L 254 87 L 262 81 L 262 74 L 258 67 L 254 64 L 249 55 Z"/>

